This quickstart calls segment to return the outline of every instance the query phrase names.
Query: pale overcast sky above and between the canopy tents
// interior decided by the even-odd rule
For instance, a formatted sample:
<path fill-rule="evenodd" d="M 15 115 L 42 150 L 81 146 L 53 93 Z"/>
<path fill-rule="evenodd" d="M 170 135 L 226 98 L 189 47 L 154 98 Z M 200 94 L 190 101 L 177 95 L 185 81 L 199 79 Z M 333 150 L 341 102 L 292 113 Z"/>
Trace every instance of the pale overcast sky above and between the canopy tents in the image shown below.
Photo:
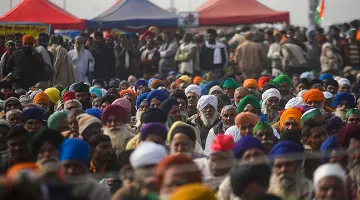
<path fill-rule="evenodd" d="M 63 0 L 51 0 L 63 7 Z M 169 8 L 170 0 L 150 0 L 162 8 Z M 178 11 L 195 10 L 207 0 L 174 0 Z M 240 1 L 240 0 L 239 0 Z M 259 0 L 259 2 L 278 11 L 289 11 L 290 22 L 295 25 L 306 26 L 308 23 L 309 0 Z M 12 0 L 15 6 L 20 0 Z M 116 0 L 66 0 L 66 10 L 73 15 L 91 19 L 105 11 Z M 353 19 L 360 19 L 360 0 L 325 0 L 324 24 L 341 23 Z M 10 9 L 10 0 L 0 0 L 0 15 Z"/>

